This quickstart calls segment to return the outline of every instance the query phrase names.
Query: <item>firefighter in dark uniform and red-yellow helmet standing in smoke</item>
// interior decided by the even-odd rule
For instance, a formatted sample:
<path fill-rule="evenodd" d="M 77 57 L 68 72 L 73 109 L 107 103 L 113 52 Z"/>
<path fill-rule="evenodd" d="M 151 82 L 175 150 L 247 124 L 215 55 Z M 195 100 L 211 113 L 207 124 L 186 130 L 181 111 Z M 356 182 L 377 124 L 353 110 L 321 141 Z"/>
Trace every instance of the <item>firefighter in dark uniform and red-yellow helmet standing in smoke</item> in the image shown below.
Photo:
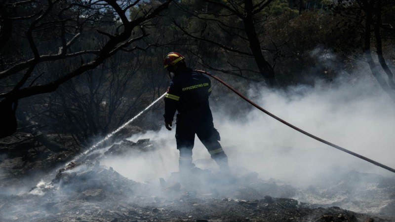
<path fill-rule="evenodd" d="M 195 134 L 207 148 L 222 171 L 229 172 L 228 157 L 222 149 L 220 135 L 214 128 L 213 116 L 208 104 L 211 94 L 210 79 L 192 69 L 185 63 L 185 57 L 170 52 L 164 58 L 164 68 L 171 79 L 164 98 L 165 127 L 171 130 L 176 112 L 176 142 L 180 152 L 180 172 L 195 168 L 192 162 Z"/>

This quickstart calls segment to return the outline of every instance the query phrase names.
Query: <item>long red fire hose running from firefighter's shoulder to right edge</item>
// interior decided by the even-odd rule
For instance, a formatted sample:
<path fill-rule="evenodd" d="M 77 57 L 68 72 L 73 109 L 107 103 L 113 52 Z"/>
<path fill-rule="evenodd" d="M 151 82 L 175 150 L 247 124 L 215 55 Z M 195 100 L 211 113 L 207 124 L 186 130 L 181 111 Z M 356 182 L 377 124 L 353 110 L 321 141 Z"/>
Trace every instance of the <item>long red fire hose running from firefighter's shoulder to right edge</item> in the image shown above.
<path fill-rule="evenodd" d="M 217 76 L 215 76 L 215 75 L 213 75 L 213 74 L 210 74 L 210 73 L 207 73 L 207 72 L 205 72 L 205 71 L 201 71 L 201 70 L 197 70 L 197 72 L 202 73 L 202 74 L 206 74 L 206 75 L 208 75 L 208 76 L 213 77 L 214 79 L 216 79 L 217 81 L 221 82 L 223 85 L 225 85 L 226 87 L 228 87 L 230 90 L 232 90 L 234 93 L 236 93 L 236 94 L 237 94 L 239 97 L 241 97 L 243 100 L 247 101 L 249 104 L 251 104 L 252 106 L 254 106 L 255 108 L 257 108 L 258 110 L 265 112 L 265 113 L 268 114 L 269 116 L 271 116 L 271 117 L 273 117 L 274 119 L 276 119 L 277 121 L 279 121 L 279 122 L 281 122 L 281 123 L 283 123 L 283 124 L 285 124 L 285 125 L 291 127 L 292 129 L 294 129 L 294 130 L 296 130 L 296 131 L 299 131 L 299 132 L 305 134 L 306 136 L 311 137 L 311 138 L 313 138 L 313 139 L 315 139 L 315 140 L 317 140 L 317 141 L 319 141 L 319 142 L 321 142 L 321 143 L 324 143 L 324 144 L 329 145 L 329 146 L 331 146 L 331 147 L 333 147 L 333 148 L 339 149 L 339 150 L 341 150 L 341 151 L 343 151 L 343 152 L 347 152 L 347 153 L 349 153 L 349 154 L 351 154 L 351 155 L 353 155 L 353 156 L 356 156 L 356 157 L 358 157 L 358 158 L 360 158 L 360 159 L 363 159 L 363 160 L 365 160 L 365 161 L 367 161 L 367 162 L 369 162 L 369 163 L 373 163 L 373 164 L 376 165 L 376 166 L 382 167 L 382 168 L 384 168 L 384 169 L 386 169 L 386 170 L 389 170 L 389 171 L 395 173 L 395 169 L 393 169 L 393 168 L 391 168 L 391 167 L 389 167 L 389 166 L 386 166 L 386 165 L 381 164 L 381 163 L 379 163 L 379 162 L 377 162 L 377 161 L 374 161 L 374 160 L 372 160 L 372 159 L 369 159 L 369 158 L 367 158 L 367 157 L 365 157 L 365 156 L 362 156 L 362 155 L 360 155 L 360 154 L 358 154 L 358 153 L 356 153 L 356 152 L 350 151 L 350 150 L 348 150 L 348 149 L 346 149 L 346 148 L 342 148 L 342 147 L 340 147 L 340 146 L 337 146 L 337 145 L 335 145 L 335 144 L 332 144 L 332 143 L 330 143 L 330 142 L 328 142 L 328 141 L 326 141 L 326 140 L 323 140 L 323 139 L 321 139 L 321 138 L 319 138 L 319 137 L 317 137 L 317 136 L 315 136 L 315 135 L 313 135 L 313 134 L 311 134 L 311 133 L 308 133 L 308 132 L 306 132 L 306 131 L 304 131 L 304 130 L 302 130 L 302 129 L 300 129 L 300 128 L 298 128 L 298 127 L 292 125 L 292 124 L 290 124 L 289 122 L 287 122 L 287 121 L 285 121 L 285 120 L 279 118 L 278 116 L 274 115 L 273 113 L 271 113 L 271 112 L 269 112 L 269 111 L 263 109 L 263 108 L 260 107 L 258 104 L 252 102 L 251 100 L 249 100 L 248 98 L 246 98 L 243 94 L 241 94 L 239 91 L 237 91 L 235 88 L 233 88 L 232 86 L 230 86 L 229 84 L 227 84 L 226 82 L 224 82 L 222 79 L 218 78 Z"/>

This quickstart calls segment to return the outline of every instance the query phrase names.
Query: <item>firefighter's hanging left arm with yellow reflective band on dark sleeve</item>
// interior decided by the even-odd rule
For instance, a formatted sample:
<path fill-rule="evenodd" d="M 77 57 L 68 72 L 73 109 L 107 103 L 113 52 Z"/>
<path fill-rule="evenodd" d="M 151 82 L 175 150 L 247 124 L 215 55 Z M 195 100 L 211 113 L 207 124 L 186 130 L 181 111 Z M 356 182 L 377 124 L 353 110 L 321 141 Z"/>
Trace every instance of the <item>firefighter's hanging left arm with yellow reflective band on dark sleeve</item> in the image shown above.
<path fill-rule="evenodd" d="M 168 130 L 171 130 L 170 126 L 172 126 L 174 114 L 177 110 L 177 103 L 180 99 L 179 91 L 177 90 L 176 85 L 171 82 L 170 86 L 167 88 L 167 93 L 164 97 L 164 122 L 165 127 Z"/>

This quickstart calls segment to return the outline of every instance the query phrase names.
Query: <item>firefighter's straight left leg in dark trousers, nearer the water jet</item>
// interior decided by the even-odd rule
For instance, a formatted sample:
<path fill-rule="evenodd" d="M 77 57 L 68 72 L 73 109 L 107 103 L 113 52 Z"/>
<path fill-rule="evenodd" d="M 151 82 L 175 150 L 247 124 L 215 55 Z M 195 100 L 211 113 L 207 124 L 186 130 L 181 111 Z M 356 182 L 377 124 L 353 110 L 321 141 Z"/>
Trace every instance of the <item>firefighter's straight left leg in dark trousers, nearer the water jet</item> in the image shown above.
<path fill-rule="evenodd" d="M 192 148 L 194 148 L 195 132 L 190 128 L 177 123 L 176 126 L 177 149 L 180 151 L 178 159 L 179 170 L 190 170 L 195 164 L 192 163 Z"/>

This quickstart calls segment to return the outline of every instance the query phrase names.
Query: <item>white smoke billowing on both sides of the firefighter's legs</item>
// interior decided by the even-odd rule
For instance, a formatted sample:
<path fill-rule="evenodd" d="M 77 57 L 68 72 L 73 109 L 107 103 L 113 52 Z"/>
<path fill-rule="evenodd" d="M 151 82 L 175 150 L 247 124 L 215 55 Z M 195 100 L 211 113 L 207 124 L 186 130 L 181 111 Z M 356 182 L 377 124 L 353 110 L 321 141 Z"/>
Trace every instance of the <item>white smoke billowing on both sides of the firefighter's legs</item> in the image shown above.
<path fill-rule="evenodd" d="M 286 92 L 251 86 L 248 96 L 297 127 L 395 168 L 394 102 L 366 77 L 358 80 L 341 77 L 330 86 L 327 84 L 291 87 Z M 393 176 L 385 169 L 313 140 L 259 110 L 239 118 L 224 115 L 230 109 L 229 103 L 211 101 L 218 102 L 222 109 L 212 110 L 214 125 L 235 173 L 252 171 L 262 179 L 274 178 L 301 186 L 315 185 L 319 183 L 317 177 L 332 177 L 339 170 Z M 240 98 L 239 103 L 244 101 Z M 166 178 L 178 170 L 174 133 L 174 129 L 162 128 L 134 135 L 129 139 L 151 138 L 161 149 L 145 157 L 111 158 L 103 163 L 140 182 Z M 193 151 L 198 167 L 218 170 L 197 138 Z"/>

